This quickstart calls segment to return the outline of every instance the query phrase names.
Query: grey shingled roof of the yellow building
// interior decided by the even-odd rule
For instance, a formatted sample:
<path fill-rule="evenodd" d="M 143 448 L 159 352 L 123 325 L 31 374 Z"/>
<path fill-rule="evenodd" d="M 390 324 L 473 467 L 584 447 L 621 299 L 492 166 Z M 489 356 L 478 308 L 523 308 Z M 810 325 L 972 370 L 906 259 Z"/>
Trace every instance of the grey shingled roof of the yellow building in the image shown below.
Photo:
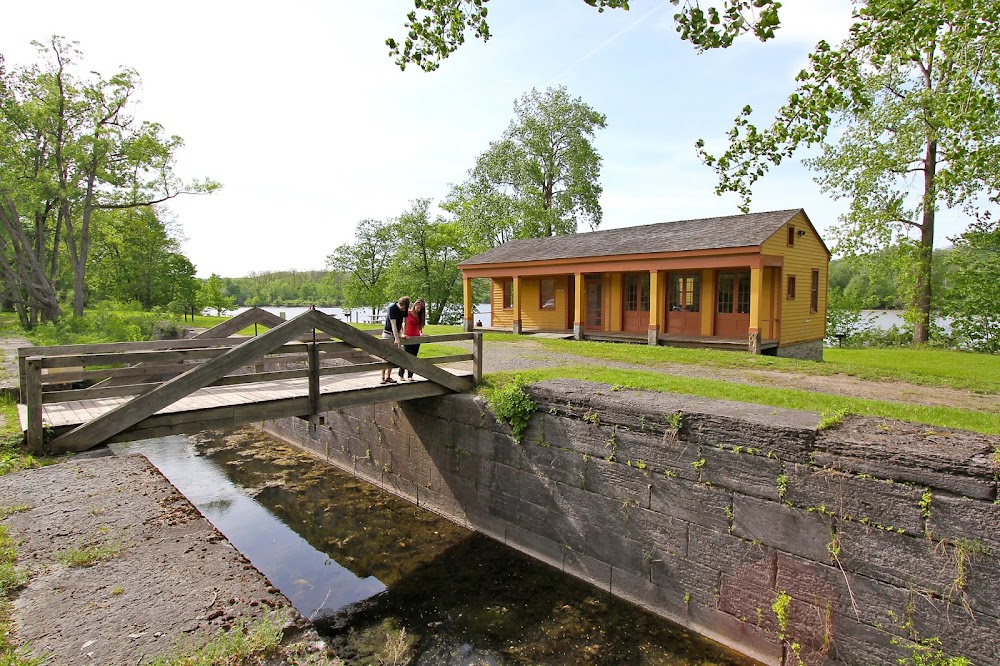
<path fill-rule="evenodd" d="M 470 257 L 459 266 L 755 246 L 770 238 L 798 213 L 805 215 L 805 211 L 796 208 L 566 236 L 522 238 Z"/>

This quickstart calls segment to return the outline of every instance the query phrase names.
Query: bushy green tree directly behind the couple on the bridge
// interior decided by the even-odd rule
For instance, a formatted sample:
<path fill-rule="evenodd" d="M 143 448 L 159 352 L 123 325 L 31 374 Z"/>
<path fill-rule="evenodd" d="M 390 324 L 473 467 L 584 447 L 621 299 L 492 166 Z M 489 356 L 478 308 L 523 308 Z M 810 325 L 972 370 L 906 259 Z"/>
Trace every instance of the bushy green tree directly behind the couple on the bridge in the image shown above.
<path fill-rule="evenodd" d="M 430 199 L 417 199 L 394 225 L 399 248 L 392 261 L 392 293 L 423 298 L 427 321 L 441 323 L 462 304 L 462 272 L 458 262 L 468 256 L 456 222 L 430 219 Z"/>

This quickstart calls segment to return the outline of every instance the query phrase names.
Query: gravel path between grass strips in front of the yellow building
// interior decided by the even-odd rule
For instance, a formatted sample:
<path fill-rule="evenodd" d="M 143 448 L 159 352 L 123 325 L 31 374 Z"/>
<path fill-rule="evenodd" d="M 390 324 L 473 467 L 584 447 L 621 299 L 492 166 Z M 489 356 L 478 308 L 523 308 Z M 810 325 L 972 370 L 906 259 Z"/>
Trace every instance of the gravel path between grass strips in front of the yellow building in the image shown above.
<path fill-rule="evenodd" d="M 1000 395 L 982 395 L 946 387 L 928 387 L 907 382 L 879 382 L 843 374 L 806 375 L 766 369 L 718 368 L 667 363 L 657 366 L 618 363 L 559 354 L 541 344 L 523 340 L 484 345 L 484 372 L 530 370 L 560 365 L 598 365 L 623 370 L 659 371 L 680 377 L 719 379 L 741 384 L 799 389 L 832 395 L 867 398 L 912 405 L 957 407 L 1000 414 Z"/>

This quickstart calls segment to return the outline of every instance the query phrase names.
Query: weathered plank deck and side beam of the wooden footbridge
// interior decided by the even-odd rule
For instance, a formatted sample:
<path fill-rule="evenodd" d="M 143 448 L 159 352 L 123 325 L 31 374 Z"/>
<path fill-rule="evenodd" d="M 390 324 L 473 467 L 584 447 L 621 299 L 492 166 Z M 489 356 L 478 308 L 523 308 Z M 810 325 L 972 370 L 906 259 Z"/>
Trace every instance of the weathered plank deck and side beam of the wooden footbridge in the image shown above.
<path fill-rule="evenodd" d="M 443 368 L 457 377 L 472 372 Z M 370 370 L 350 376 L 321 377 L 320 410 L 350 405 L 398 402 L 443 395 L 449 390 L 415 377 L 413 382 L 380 384 L 381 372 Z M 42 420 L 53 433 L 93 421 L 131 400 L 128 396 L 53 402 L 42 406 Z M 237 386 L 207 386 L 157 411 L 109 441 L 129 441 L 169 434 L 198 432 L 253 423 L 267 418 L 309 415 L 308 378 L 279 379 Z M 28 409 L 18 405 L 21 429 L 28 429 Z M 206 425 L 208 424 L 208 425 Z"/>

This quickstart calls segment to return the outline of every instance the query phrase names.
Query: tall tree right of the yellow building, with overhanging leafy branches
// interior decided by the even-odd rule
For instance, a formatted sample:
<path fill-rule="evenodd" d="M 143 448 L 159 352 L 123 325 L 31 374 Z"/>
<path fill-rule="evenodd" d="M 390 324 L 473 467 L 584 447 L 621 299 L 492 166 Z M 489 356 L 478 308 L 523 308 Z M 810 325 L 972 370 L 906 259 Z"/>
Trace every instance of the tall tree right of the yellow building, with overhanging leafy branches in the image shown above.
<path fill-rule="evenodd" d="M 1000 3 L 858 1 L 855 18 L 839 48 L 817 45 L 770 127 L 758 129 L 744 107 L 723 154 L 710 155 L 703 141 L 698 147 L 719 175 L 717 192 L 738 193 L 746 210 L 771 166 L 821 145 L 806 164 L 824 191 L 851 202 L 835 252 L 906 251 L 913 341 L 922 344 L 937 210 L 975 214 L 983 195 L 998 197 Z"/>

